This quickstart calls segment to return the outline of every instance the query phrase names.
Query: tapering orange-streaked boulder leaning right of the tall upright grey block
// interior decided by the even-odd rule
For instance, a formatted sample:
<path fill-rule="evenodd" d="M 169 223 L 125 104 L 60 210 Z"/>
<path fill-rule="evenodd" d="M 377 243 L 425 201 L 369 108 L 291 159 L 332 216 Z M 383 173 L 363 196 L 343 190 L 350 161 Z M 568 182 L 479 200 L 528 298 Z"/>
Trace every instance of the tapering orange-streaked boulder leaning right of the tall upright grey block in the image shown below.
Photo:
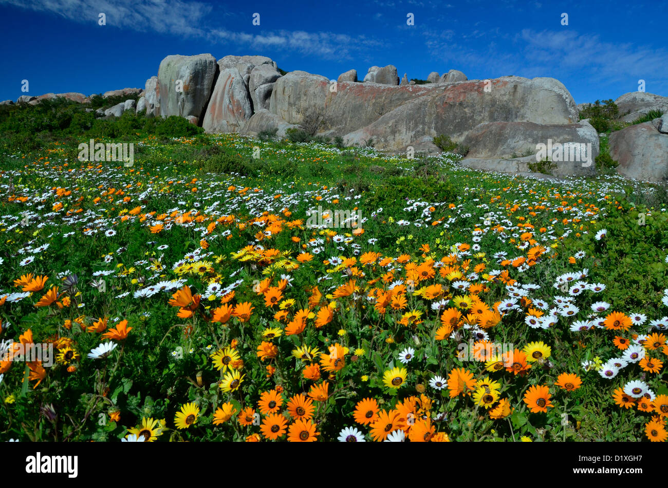
<path fill-rule="evenodd" d="M 243 77 L 236 68 L 222 68 L 204 112 L 206 132 L 237 132 L 253 115 Z"/>

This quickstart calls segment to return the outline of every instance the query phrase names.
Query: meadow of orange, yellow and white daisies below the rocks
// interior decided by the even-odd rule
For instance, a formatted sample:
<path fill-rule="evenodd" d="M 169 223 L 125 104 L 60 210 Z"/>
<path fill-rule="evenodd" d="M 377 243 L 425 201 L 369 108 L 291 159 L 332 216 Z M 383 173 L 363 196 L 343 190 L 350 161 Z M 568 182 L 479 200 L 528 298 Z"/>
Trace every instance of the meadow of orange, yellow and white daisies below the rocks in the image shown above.
<path fill-rule="evenodd" d="M 668 437 L 661 189 L 173 119 L 2 139 L 0 440 Z"/>

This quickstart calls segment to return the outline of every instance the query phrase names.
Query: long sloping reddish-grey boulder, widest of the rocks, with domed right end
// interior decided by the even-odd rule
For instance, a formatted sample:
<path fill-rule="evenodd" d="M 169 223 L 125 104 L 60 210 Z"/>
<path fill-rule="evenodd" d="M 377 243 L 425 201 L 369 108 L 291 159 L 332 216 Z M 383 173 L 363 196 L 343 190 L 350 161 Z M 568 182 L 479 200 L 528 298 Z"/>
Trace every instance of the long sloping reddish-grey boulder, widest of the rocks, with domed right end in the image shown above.
<path fill-rule="evenodd" d="M 347 133 L 344 141 L 351 145 L 373 139 L 377 149 L 403 152 L 425 135 L 445 134 L 461 142 L 484 122 L 566 125 L 578 121 L 573 97 L 556 79 L 501 77 L 490 81 L 491 90 L 486 90 L 485 81 L 480 80 L 435 85 L 366 127 Z"/>

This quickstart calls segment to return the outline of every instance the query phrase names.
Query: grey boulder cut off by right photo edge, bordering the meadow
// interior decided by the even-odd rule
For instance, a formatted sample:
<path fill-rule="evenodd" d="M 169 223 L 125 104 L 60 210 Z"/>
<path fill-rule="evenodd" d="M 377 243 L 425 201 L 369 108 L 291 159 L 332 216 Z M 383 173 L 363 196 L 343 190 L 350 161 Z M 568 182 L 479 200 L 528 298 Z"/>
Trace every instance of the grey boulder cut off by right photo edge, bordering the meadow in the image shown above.
<path fill-rule="evenodd" d="M 610 155 L 617 171 L 628 178 L 661 181 L 668 177 L 668 135 L 649 123 L 629 125 L 611 133 Z"/>

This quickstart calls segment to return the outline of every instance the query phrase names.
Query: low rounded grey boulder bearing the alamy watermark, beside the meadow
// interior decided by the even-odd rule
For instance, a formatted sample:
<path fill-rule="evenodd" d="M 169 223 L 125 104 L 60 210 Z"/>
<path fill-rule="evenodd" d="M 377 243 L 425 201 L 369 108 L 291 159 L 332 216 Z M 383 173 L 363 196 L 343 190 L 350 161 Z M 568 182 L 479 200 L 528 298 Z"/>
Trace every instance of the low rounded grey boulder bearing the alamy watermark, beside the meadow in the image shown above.
<path fill-rule="evenodd" d="M 549 159 L 554 176 L 593 175 L 599 155 L 599 135 L 588 121 L 568 125 L 533 122 L 486 122 L 468 132 L 464 162 L 477 169 L 516 173 L 522 165 Z M 489 161 L 484 163 L 484 161 Z M 503 161 L 507 161 L 504 170 Z M 485 165 L 487 166 L 485 167 Z M 518 166 L 520 165 L 520 166 Z"/>

